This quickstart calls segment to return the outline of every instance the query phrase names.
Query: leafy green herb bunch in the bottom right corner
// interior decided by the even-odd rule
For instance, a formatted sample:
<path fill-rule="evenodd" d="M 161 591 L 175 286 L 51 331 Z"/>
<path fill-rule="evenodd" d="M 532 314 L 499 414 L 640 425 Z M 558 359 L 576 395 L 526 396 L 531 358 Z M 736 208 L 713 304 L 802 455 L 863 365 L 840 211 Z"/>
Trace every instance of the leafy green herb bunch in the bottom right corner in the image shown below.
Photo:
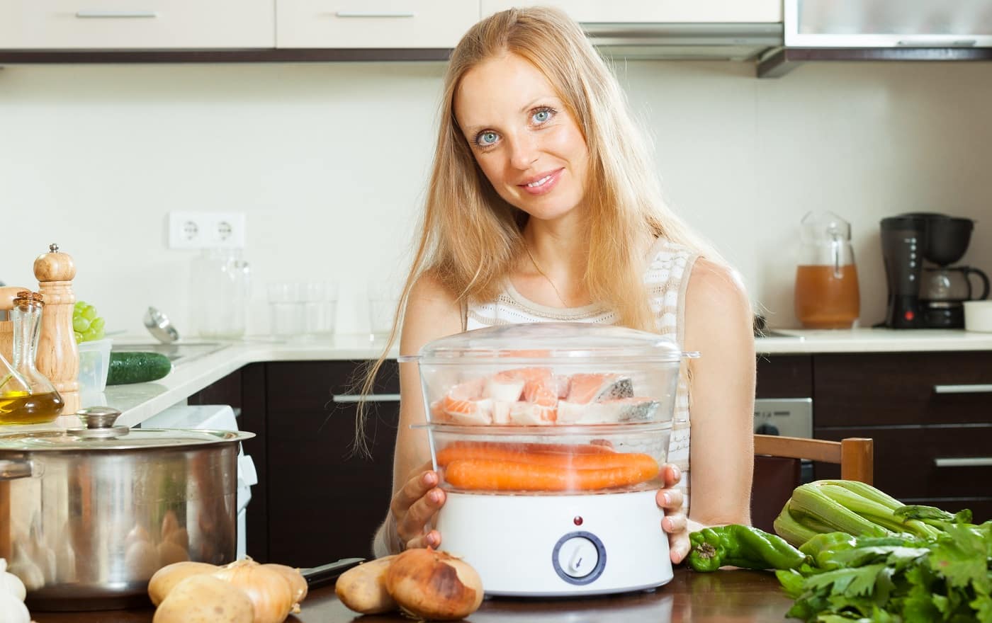
<path fill-rule="evenodd" d="M 787 616 L 816 623 L 992 623 L 992 521 L 969 523 L 930 507 L 902 513 L 939 534 L 864 537 L 815 557 L 815 567 L 776 571 L 796 600 Z"/>

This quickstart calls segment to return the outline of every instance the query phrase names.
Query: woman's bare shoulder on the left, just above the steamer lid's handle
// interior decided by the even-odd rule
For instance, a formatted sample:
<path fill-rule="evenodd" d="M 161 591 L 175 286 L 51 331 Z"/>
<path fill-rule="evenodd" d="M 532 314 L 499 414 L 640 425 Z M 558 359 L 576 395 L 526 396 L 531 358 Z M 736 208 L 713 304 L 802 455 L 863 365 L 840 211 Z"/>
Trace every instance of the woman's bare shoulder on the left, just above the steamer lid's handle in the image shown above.
<path fill-rule="evenodd" d="M 400 352 L 412 355 L 437 338 L 461 331 L 461 308 L 457 298 L 432 272 L 414 283 L 407 300 L 400 336 Z"/>

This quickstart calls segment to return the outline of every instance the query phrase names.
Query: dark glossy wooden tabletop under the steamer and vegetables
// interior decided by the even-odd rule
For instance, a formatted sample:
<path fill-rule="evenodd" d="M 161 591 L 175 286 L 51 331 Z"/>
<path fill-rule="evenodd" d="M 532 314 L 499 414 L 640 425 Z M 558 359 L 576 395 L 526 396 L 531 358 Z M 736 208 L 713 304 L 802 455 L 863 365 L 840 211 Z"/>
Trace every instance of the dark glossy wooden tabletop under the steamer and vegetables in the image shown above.
<path fill-rule="evenodd" d="M 651 592 L 583 599 L 493 598 L 466 620 L 471 623 L 679 623 L 681 621 L 784 621 L 792 601 L 775 574 L 764 571 L 695 573 L 676 570 L 675 578 Z M 32 612 L 38 623 L 150 623 L 154 610 L 104 612 Z M 359 615 L 334 596 L 333 585 L 321 586 L 303 603 L 291 623 L 410 623 L 399 614 Z"/>

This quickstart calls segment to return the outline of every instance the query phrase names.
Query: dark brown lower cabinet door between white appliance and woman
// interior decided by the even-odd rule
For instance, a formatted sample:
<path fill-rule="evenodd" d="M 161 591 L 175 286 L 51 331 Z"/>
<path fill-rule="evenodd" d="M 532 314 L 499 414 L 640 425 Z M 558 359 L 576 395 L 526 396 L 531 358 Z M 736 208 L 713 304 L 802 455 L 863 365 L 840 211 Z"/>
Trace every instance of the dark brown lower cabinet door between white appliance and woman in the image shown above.
<path fill-rule="evenodd" d="M 371 456 L 355 453 L 358 362 L 266 364 L 269 561 L 313 567 L 372 553 L 393 490 L 399 422 L 396 363 L 384 366 L 366 424 Z M 338 400 L 341 400 L 338 398 Z"/>

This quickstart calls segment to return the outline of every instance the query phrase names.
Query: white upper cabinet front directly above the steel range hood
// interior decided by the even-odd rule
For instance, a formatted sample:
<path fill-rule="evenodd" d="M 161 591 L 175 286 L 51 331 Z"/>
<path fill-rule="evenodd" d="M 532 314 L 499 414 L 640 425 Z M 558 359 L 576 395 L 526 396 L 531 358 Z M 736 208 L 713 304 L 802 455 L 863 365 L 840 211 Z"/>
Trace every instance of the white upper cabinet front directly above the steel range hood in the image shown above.
<path fill-rule="evenodd" d="M 585 24 L 782 22 L 782 0 L 481 0 L 481 14 L 524 6 L 556 6 Z"/>

